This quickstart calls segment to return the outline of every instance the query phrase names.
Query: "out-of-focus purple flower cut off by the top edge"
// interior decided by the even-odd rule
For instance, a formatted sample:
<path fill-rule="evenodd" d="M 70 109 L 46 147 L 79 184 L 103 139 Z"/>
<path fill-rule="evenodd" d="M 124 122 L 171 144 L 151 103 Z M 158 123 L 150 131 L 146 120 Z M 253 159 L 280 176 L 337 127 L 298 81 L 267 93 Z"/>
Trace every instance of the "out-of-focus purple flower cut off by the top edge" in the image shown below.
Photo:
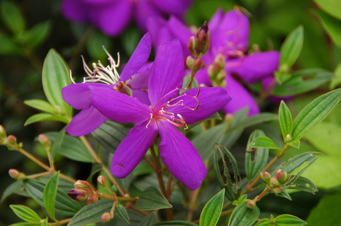
<path fill-rule="evenodd" d="M 191 0 L 63 0 L 64 17 L 76 22 L 90 21 L 107 35 L 118 35 L 134 19 L 143 32 L 152 16 L 182 18 Z"/>

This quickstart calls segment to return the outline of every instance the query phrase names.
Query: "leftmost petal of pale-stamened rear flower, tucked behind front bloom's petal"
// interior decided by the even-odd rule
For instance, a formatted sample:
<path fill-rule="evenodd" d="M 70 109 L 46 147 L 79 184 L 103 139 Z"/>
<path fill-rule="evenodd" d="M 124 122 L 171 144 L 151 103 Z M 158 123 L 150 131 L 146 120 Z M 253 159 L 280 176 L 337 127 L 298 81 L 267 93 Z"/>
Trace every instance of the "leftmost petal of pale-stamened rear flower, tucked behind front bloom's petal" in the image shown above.
<path fill-rule="evenodd" d="M 61 89 L 61 94 L 66 103 L 76 109 L 88 109 L 91 105 L 91 91 L 89 87 L 102 87 L 111 89 L 114 85 L 102 83 L 76 83 Z"/>

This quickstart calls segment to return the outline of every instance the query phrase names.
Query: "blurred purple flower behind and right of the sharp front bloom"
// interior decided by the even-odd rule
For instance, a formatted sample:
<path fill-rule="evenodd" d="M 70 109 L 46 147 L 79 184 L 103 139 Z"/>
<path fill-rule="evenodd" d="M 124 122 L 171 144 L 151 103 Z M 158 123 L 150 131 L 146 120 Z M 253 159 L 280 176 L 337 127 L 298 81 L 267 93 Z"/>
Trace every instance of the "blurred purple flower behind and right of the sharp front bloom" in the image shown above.
<path fill-rule="evenodd" d="M 187 50 L 189 37 L 194 35 L 176 17 L 168 21 L 163 18 L 148 20 L 148 30 L 153 35 L 153 44 L 178 38 L 184 51 L 184 57 L 190 55 Z M 204 68 L 197 71 L 195 78 L 199 84 L 211 86 L 208 77 L 208 66 L 218 54 L 225 57 L 226 89 L 232 101 L 224 107 L 226 113 L 234 113 L 241 108 L 249 107 L 248 115 L 259 113 L 259 108 L 244 83 L 254 84 L 265 77 L 273 76 L 279 64 L 279 52 L 255 52 L 246 54 L 248 49 L 249 24 L 247 17 L 238 10 L 224 14 L 217 10 L 208 22 L 210 32 L 210 48 L 202 57 Z"/>

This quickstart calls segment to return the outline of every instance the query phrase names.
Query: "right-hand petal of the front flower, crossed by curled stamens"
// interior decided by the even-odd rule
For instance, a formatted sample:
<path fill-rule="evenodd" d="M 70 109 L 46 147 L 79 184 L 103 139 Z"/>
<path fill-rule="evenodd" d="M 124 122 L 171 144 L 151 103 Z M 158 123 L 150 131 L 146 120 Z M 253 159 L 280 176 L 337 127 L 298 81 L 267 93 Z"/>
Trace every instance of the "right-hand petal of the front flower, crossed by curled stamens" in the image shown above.
<path fill-rule="evenodd" d="M 183 101 L 179 102 L 179 104 L 175 106 L 165 108 L 165 111 L 172 112 L 175 116 L 180 114 L 187 124 L 192 124 L 206 119 L 208 116 L 213 115 L 231 101 L 226 90 L 222 87 L 200 87 L 199 96 L 196 99 L 193 97 L 197 95 L 198 88 L 192 88 L 185 93 L 186 95 L 182 94 L 171 101 L 170 104 L 175 104 L 180 100 Z M 192 110 L 198 105 L 198 103 L 198 108 Z"/>

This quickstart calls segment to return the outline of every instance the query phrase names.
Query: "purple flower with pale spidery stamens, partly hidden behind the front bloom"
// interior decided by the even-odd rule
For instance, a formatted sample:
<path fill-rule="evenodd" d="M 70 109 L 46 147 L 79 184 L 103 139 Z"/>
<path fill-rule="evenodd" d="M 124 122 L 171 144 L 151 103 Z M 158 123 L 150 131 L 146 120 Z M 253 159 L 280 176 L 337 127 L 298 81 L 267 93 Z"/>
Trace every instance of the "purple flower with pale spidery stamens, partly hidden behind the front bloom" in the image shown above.
<path fill-rule="evenodd" d="M 116 64 L 114 58 L 108 52 L 111 65 L 107 67 L 98 62 L 94 70 L 91 70 L 83 59 L 84 69 L 88 77 L 84 78 L 83 83 L 74 83 L 61 90 L 64 101 L 81 110 L 66 127 L 66 132 L 72 136 L 83 136 L 91 133 L 108 120 L 108 117 L 91 105 L 92 92 L 90 87 L 101 87 L 110 90 L 115 88 L 123 93 L 131 91 L 133 97 L 138 97 L 142 103 L 149 104 L 148 94 L 141 88 L 147 88 L 151 63 L 146 62 L 151 52 L 151 45 L 152 35 L 147 33 L 137 45 L 121 75 L 116 70 L 118 63 Z M 130 78 L 132 79 L 130 80 Z"/>

